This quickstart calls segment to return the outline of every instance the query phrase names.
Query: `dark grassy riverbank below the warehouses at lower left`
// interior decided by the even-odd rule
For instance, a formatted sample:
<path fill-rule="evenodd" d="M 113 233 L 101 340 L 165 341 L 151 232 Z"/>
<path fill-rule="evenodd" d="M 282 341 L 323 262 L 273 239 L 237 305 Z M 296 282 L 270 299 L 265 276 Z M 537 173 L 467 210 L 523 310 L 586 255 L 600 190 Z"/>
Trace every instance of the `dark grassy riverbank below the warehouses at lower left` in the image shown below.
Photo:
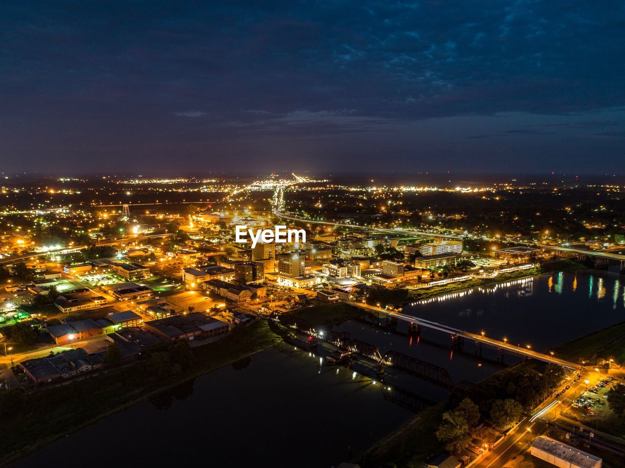
<path fill-rule="evenodd" d="M 274 346 L 281 337 L 266 322 L 238 327 L 232 334 L 193 348 L 194 365 L 171 377 L 155 377 L 145 362 L 113 368 L 67 385 L 32 392 L 24 408 L 0 425 L 0 464 L 23 457 L 114 412 Z"/>

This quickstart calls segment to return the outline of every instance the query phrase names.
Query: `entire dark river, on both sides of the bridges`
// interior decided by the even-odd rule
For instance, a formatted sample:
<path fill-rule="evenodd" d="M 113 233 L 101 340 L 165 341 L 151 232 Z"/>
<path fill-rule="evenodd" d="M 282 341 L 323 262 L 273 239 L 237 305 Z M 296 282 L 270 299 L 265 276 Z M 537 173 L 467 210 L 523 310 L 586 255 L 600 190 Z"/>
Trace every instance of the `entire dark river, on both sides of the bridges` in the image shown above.
<path fill-rule="evenodd" d="M 625 320 L 625 277 L 579 271 L 476 288 L 404 307 L 404 313 L 514 344 L 548 349 Z M 449 337 L 419 337 L 360 321 L 337 327 L 351 337 L 444 367 L 454 383 L 476 382 L 517 358 L 472 344 L 451 350 Z M 410 376 L 375 382 L 367 363 L 327 366 L 327 349 L 281 345 L 163 392 L 65 437 L 13 464 L 92 467 L 210 464 L 330 467 L 364 452 L 413 412 L 392 402 L 392 386 L 441 401 L 446 390 Z M 360 366 L 360 367 L 359 367 Z M 369 366 L 372 367 L 372 366 Z M 366 377 L 366 374 L 369 377 Z M 388 387 L 386 387 L 388 385 Z"/>

